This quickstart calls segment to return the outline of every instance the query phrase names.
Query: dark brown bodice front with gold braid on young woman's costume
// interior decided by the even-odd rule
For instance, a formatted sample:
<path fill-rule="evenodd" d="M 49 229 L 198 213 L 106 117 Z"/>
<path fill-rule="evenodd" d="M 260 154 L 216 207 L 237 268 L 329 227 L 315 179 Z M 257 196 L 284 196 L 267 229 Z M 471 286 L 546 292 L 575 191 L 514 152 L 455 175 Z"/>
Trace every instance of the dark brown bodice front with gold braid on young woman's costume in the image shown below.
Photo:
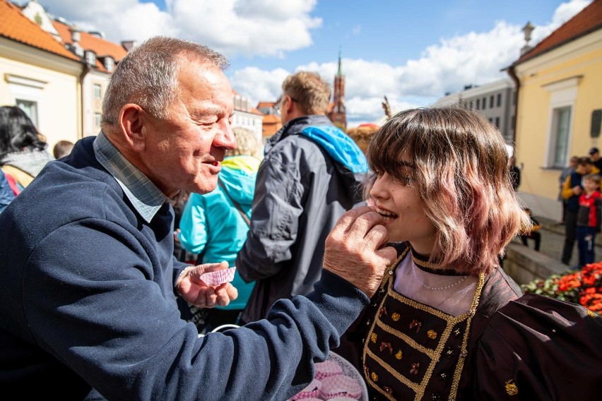
<path fill-rule="evenodd" d="M 394 263 L 394 268 L 405 255 L 406 252 Z M 471 321 L 476 313 L 485 275 L 481 274 L 478 278 L 470 309 L 460 316 L 450 316 L 404 297 L 393 289 L 395 277 L 385 277 L 381 287 L 383 295 L 377 297 L 377 304 L 374 304 L 377 316 L 370 320 L 368 338 L 372 341 L 365 342 L 362 353 L 368 384 L 388 400 L 422 400 L 431 396 L 455 400 L 464 359 L 468 356 Z M 392 310 L 396 312 L 389 316 L 378 312 Z M 412 314 L 408 316 L 408 312 Z M 420 330 L 423 325 L 429 330 Z M 392 345 L 397 344 L 401 348 L 396 347 L 397 351 L 393 354 Z M 435 378 L 441 384 L 433 382 L 434 387 L 430 387 L 430 393 L 425 394 L 427 386 Z M 382 386 L 377 381 L 399 383 Z"/>

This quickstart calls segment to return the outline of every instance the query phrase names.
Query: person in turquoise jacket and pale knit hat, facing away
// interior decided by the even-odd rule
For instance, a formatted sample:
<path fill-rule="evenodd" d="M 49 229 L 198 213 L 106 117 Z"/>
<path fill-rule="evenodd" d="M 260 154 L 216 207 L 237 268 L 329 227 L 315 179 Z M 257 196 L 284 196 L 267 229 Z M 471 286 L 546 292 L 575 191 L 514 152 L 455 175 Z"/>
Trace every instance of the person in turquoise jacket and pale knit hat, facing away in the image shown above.
<path fill-rule="evenodd" d="M 179 222 L 179 244 L 198 255 L 198 265 L 227 261 L 234 266 L 236 254 L 247 239 L 255 178 L 261 162 L 255 156 L 259 140 L 246 128 L 232 128 L 232 133 L 236 149 L 226 152 L 217 188 L 210 193 L 191 193 Z M 236 272 L 232 285 L 238 289 L 238 298 L 228 306 L 206 310 L 204 327 L 199 327 L 201 332 L 240 323 L 240 313 L 247 306 L 255 283 L 244 282 Z"/>

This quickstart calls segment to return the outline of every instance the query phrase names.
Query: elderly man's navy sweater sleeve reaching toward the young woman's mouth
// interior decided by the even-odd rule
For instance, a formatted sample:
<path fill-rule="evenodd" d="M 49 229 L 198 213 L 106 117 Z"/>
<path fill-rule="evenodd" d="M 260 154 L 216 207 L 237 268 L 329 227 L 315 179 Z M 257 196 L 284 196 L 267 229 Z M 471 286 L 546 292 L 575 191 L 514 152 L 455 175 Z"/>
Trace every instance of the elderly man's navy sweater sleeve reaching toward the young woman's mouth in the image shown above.
<path fill-rule="evenodd" d="M 368 303 L 324 273 L 314 293 L 278 301 L 269 320 L 199 338 L 154 281 L 171 280 L 160 277 L 171 270 L 152 241 L 136 227 L 84 219 L 45 237 L 25 265 L 31 342 L 108 400 L 287 400 Z"/>

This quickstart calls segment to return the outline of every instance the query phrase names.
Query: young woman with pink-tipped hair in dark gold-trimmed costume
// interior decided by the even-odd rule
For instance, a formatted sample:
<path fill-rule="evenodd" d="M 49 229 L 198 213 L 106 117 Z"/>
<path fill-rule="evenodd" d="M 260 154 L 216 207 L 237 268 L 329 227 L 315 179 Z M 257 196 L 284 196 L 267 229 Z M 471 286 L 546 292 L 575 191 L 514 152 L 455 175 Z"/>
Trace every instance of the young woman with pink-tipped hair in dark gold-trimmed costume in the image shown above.
<path fill-rule="evenodd" d="M 367 154 L 370 203 L 399 243 L 360 325 L 371 397 L 591 399 L 602 383 L 602 319 L 522 297 L 500 268 L 504 247 L 531 222 L 495 126 L 464 109 L 408 110 L 374 133 Z M 588 368 L 567 364 L 569 354 Z"/>

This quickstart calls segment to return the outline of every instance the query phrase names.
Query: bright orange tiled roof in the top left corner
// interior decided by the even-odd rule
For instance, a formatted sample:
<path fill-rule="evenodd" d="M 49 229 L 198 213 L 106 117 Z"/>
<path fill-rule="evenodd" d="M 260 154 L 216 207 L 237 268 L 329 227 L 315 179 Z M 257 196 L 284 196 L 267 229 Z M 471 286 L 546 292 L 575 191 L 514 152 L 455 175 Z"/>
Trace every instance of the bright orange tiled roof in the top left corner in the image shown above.
<path fill-rule="evenodd" d="M 78 56 L 65 49 L 63 44 L 57 42 L 52 35 L 40 28 L 40 25 L 23 16 L 18 7 L 6 0 L 0 0 L 0 36 L 67 59 L 80 60 Z"/>

